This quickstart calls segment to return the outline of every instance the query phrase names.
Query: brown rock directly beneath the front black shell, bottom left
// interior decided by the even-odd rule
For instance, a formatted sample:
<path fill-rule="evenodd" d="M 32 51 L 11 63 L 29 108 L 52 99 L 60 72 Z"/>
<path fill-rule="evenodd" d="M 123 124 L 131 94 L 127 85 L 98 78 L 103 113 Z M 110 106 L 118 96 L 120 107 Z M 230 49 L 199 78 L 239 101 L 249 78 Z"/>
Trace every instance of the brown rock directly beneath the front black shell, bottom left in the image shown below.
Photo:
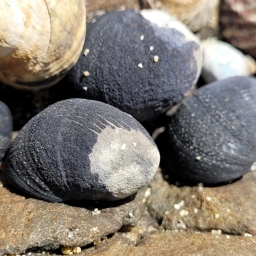
<path fill-rule="evenodd" d="M 142 189 L 129 202 L 77 201 L 72 206 L 26 199 L 0 183 L 0 255 L 20 254 L 35 247 L 85 246 L 123 225 L 135 226 L 144 193 Z"/>

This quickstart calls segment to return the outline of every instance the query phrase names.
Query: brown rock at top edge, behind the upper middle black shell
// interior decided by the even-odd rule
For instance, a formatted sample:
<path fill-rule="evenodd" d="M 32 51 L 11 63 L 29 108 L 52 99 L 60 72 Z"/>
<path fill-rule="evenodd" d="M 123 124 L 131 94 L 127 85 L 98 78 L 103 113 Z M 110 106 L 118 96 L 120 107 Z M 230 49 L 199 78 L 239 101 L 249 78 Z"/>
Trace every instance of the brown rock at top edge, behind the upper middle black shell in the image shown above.
<path fill-rule="evenodd" d="M 134 9 L 139 10 L 138 0 L 86 0 L 86 18 L 100 16 L 113 10 Z"/>

